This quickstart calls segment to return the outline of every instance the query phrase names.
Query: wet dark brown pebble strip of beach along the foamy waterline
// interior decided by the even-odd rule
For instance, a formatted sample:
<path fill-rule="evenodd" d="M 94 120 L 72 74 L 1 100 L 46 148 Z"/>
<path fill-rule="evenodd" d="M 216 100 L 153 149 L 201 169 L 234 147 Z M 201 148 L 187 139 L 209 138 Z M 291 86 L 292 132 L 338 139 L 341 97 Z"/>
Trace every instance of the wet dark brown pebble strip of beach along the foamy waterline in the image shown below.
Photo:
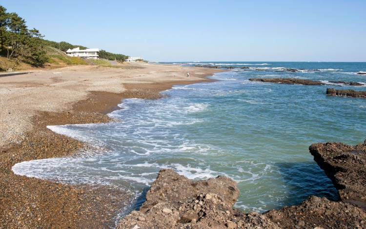
<path fill-rule="evenodd" d="M 185 71 L 183 67 L 180 68 Z M 0 191 L 4 194 L 0 197 L 0 225 L 5 228 L 19 225 L 50 228 L 114 226 L 113 214 L 121 207 L 127 207 L 118 203 L 119 198 L 125 199 L 125 193 L 116 193 L 116 189 L 108 187 L 64 185 L 18 176 L 11 167 L 22 161 L 69 156 L 86 146 L 80 141 L 54 133 L 47 125 L 109 122 L 112 119 L 106 114 L 119 109 L 117 105 L 121 104 L 122 99 L 158 99 L 161 91 L 173 85 L 213 81 L 207 77 L 220 70 L 205 72 L 198 75 L 200 79 L 170 78 L 161 83 L 123 83 L 122 93 L 91 90 L 86 99 L 73 103 L 70 109 L 60 112 L 38 111 L 31 118 L 33 127 L 26 131 L 23 141 L 1 148 Z"/>

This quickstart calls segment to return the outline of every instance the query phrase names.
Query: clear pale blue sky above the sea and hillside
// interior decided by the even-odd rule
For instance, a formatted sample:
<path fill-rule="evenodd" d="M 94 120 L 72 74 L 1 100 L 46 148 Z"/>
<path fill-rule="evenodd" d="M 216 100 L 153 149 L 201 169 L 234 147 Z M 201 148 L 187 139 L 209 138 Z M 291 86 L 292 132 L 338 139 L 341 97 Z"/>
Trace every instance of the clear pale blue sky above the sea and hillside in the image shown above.
<path fill-rule="evenodd" d="M 366 62 L 366 0 L 0 0 L 45 39 L 155 62 Z"/>

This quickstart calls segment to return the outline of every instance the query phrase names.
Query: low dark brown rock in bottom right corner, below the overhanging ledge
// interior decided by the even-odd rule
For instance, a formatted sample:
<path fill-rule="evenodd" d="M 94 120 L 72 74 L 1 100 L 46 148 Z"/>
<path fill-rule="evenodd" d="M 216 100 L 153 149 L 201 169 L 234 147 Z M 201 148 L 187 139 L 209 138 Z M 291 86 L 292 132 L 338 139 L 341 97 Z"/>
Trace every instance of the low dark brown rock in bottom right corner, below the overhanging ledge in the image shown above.
<path fill-rule="evenodd" d="M 300 205 L 264 212 L 283 229 L 366 228 L 366 213 L 361 208 L 324 197 L 310 196 Z"/>

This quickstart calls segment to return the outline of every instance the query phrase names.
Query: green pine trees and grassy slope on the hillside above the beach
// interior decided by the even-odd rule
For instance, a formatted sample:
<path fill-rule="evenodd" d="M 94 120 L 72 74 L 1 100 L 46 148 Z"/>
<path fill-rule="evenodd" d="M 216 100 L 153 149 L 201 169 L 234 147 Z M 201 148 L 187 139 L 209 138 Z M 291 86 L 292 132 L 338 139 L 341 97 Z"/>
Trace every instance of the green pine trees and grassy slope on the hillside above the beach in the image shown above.
<path fill-rule="evenodd" d="M 69 57 L 64 52 L 67 49 L 80 47 L 68 42 L 54 42 L 43 39 L 40 31 L 33 28 L 29 29 L 17 13 L 8 13 L 6 8 L 0 5 L 0 70 L 7 70 L 6 67 L 17 68 L 27 64 L 35 67 L 41 67 L 47 62 L 52 66 L 70 65 L 70 64 L 97 64 L 101 66 L 110 66 L 105 60 L 84 60 L 78 57 Z M 124 62 L 128 56 L 122 54 L 110 53 L 101 50 L 99 56 L 107 60 L 116 60 Z M 6 64 L 5 64 L 6 63 Z"/>

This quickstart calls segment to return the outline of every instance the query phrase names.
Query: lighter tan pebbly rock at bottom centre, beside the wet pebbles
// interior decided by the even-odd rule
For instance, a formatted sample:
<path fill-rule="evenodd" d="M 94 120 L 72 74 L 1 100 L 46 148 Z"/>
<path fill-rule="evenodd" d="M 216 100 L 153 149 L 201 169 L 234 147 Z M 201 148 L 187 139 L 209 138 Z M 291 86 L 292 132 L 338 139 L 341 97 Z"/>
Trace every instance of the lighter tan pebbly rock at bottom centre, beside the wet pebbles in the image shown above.
<path fill-rule="evenodd" d="M 235 181 L 224 176 L 190 181 L 172 169 L 162 169 L 146 202 L 124 217 L 117 229 L 279 228 L 259 213 L 233 209 L 238 194 Z"/>

